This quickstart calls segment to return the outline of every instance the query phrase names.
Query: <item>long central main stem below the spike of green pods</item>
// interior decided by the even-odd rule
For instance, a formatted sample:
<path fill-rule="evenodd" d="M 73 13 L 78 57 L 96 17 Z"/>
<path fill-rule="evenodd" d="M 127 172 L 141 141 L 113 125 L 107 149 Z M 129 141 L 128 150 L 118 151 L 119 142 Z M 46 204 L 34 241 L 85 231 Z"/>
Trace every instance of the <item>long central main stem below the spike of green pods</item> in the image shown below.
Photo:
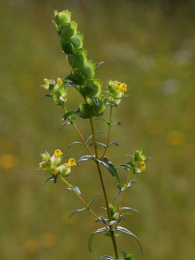
<path fill-rule="evenodd" d="M 98 159 L 99 157 L 98 157 L 98 151 L 97 151 L 97 143 L 96 143 L 95 131 L 94 131 L 92 118 L 90 118 L 90 124 L 91 124 L 91 131 L 92 131 L 92 135 L 93 135 L 95 157 L 96 157 L 96 159 Z M 111 215 L 110 215 L 108 197 L 107 197 L 107 193 L 106 193 L 106 188 L 105 188 L 105 184 L 104 184 L 104 180 L 103 180 L 100 164 L 97 161 L 96 161 L 96 166 L 97 166 L 98 173 L 99 173 L 99 176 L 100 176 L 101 185 L 102 185 L 102 189 L 103 189 L 103 193 L 104 193 L 104 199 L 105 199 L 105 203 L 106 203 L 108 220 L 110 222 L 112 219 L 111 219 Z M 114 248 L 114 256 L 115 256 L 116 259 L 118 259 L 118 251 L 117 251 L 116 239 L 115 239 L 115 235 L 114 235 L 114 231 L 112 229 L 112 226 L 110 227 L 110 231 L 111 231 L 110 233 L 111 233 L 111 237 L 112 237 L 112 244 L 113 244 L 113 248 Z"/>

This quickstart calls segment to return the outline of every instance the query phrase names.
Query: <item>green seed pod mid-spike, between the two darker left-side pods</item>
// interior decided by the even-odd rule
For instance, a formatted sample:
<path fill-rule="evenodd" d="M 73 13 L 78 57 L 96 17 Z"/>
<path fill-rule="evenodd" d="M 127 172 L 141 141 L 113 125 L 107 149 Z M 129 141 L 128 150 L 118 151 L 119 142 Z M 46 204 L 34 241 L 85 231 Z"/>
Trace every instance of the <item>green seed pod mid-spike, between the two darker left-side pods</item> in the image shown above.
<path fill-rule="evenodd" d="M 83 67 L 87 62 L 87 51 L 83 48 L 77 49 L 75 53 L 68 55 L 68 62 L 70 66 L 75 68 Z"/>

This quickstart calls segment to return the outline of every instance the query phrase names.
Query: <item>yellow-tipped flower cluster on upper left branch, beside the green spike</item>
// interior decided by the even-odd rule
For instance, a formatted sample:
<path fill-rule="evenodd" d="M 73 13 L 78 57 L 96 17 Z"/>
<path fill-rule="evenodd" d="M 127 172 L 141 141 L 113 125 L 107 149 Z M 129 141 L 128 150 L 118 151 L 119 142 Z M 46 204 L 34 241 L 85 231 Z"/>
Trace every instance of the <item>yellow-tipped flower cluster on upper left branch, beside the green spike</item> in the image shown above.
<path fill-rule="evenodd" d="M 43 97 L 52 97 L 56 105 L 64 105 L 66 102 L 67 88 L 65 83 L 62 83 L 60 78 L 57 79 L 55 84 L 54 79 L 44 79 L 45 84 L 41 87 L 51 91 L 51 94 L 44 95 Z"/>

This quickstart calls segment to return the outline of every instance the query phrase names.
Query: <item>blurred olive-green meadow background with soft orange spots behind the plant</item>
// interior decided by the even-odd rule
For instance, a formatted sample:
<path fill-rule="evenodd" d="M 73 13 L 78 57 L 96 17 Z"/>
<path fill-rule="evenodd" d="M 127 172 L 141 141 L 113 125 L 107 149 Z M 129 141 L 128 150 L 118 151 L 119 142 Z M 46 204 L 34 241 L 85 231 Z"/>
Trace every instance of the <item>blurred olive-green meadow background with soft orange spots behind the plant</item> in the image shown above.
<path fill-rule="evenodd" d="M 111 146 L 107 156 L 117 166 L 142 146 L 153 158 L 146 172 L 131 175 L 138 183 L 128 190 L 124 206 L 140 215 L 135 212 L 122 224 L 140 239 L 143 260 L 195 259 L 195 2 L 125 0 L 0 2 L 0 259 L 95 260 L 112 255 L 103 234 L 95 236 L 93 252 L 88 251 L 88 236 L 101 225 L 86 211 L 67 220 L 83 205 L 61 180 L 42 186 L 48 172 L 36 172 L 44 150 L 53 155 L 61 149 L 76 160 L 87 154 L 82 146 L 66 150 L 79 136 L 71 126 L 59 133 L 63 109 L 42 99 L 47 94 L 40 87 L 44 78 L 63 79 L 70 73 L 51 22 L 55 9 L 72 12 L 84 34 L 88 60 L 105 61 L 96 70 L 103 90 L 114 78 L 126 83 L 125 94 L 131 95 L 113 109 L 113 121 L 122 124 L 112 128 L 110 141 L 120 146 Z M 66 109 L 81 102 L 69 88 Z M 108 116 L 107 108 L 103 118 Z M 87 139 L 89 120 L 78 118 L 77 125 Z M 97 141 L 106 142 L 107 126 L 100 121 L 94 125 L 101 131 Z M 127 172 L 118 173 L 124 183 Z M 116 181 L 104 168 L 103 174 L 112 202 Z M 74 166 L 67 181 L 75 181 L 87 203 L 102 193 L 91 161 Z M 101 195 L 92 210 L 101 216 L 104 206 Z M 117 243 L 118 250 L 136 251 L 135 259 L 140 258 L 133 237 L 122 233 Z"/>

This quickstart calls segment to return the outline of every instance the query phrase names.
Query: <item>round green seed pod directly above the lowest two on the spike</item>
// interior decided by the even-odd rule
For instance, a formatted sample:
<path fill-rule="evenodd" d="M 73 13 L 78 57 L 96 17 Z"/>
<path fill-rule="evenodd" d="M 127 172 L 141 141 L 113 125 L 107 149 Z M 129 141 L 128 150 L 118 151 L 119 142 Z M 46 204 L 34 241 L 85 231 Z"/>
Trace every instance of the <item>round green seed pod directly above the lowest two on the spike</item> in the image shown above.
<path fill-rule="evenodd" d="M 99 82 L 99 79 L 88 80 L 85 86 L 82 86 L 82 90 L 86 96 L 92 99 L 92 97 L 98 96 L 101 93 L 102 82 Z"/>

